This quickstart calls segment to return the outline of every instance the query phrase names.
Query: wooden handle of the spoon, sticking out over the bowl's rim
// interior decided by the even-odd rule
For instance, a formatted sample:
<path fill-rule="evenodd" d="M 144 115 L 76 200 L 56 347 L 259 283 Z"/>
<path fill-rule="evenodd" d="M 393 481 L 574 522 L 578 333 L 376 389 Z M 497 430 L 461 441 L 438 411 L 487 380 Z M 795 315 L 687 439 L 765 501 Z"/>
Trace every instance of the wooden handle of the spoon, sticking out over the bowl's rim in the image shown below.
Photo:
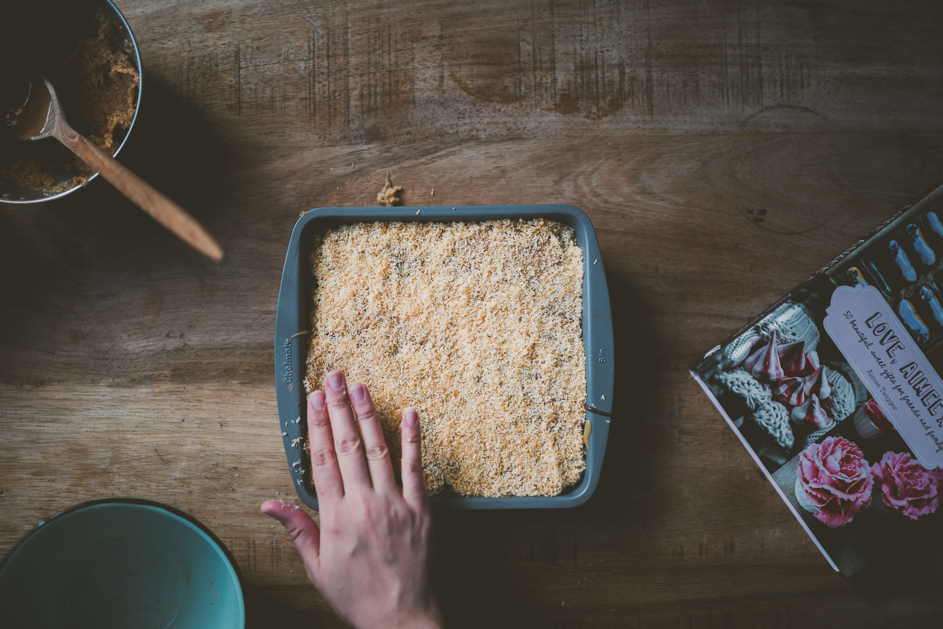
<path fill-rule="evenodd" d="M 76 132 L 62 120 L 52 130 L 51 135 L 81 157 L 92 169 L 97 170 L 108 183 L 118 188 L 119 192 L 135 202 L 144 212 L 177 234 L 190 247 L 216 262 L 223 260 L 223 249 L 207 233 L 203 225 L 196 221 L 196 218 L 191 217 L 186 210 L 158 192 L 141 177 L 124 168 L 99 149 L 94 142 Z"/>

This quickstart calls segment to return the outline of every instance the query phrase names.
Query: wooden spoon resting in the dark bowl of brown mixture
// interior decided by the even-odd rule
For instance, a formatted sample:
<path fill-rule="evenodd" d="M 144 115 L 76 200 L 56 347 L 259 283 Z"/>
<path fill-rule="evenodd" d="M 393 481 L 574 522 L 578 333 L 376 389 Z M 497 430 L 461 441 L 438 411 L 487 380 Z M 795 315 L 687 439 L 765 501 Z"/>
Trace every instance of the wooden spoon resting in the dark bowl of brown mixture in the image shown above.
<path fill-rule="evenodd" d="M 223 249 L 195 218 L 69 126 L 62 115 L 56 90 L 45 77 L 40 76 L 28 83 L 24 105 L 7 114 L 13 137 L 23 140 L 55 137 L 190 247 L 216 262 L 223 260 Z"/>

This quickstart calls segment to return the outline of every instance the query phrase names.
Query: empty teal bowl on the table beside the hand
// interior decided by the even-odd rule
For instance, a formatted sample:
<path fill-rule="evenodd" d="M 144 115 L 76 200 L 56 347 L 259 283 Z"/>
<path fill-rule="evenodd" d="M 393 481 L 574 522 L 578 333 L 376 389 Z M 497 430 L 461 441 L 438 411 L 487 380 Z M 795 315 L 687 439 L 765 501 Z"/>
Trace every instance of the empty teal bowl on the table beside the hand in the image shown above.
<path fill-rule="evenodd" d="M 98 500 L 38 524 L 0 563 L 9 627 L 244 629 L 223 542 L 174 508 Z"/>

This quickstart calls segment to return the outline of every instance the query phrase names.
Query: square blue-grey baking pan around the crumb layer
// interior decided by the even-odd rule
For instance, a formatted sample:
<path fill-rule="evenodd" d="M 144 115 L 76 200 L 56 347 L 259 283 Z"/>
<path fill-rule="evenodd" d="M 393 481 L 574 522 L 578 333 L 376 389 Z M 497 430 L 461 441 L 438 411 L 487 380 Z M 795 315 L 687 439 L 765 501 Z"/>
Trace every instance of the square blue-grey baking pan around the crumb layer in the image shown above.
<path fill-rule="evenodd" d="M 417 211 L 419 213 L 417 214 Z M 314 487 L 308 485 L 308 465 L 301 444 L 307 435 L 305 417 L 305 363 L 311 322 L 310 268 L 314 234 L 341 224 L 401 220 L 423 222 L 482 221 L 500 218 L 548 218 L 570 225 L 583 250 L 583 343 L 586 347 L 587 422 L 592 427 L 583 479 L 555 496 L 511 496 L 489 498 L 440 493 L 432 504 L 443 508 L 568 508 L 587 501 L 599 482 L 605 442 L 612 411 L 614 359 L 612 314 L 606 288 L 603 258 L 596 233 L 587 215 L 572 205 L 470 205 L 448 207 L 321 207 L 307 212 L 295 223 L 282 270 L 275 315 L 275 390 L 278 398 L 279 431 L 285 444 L 291 482 L 308 507 L 318 508 Z M 301 333 L 299 333 L 301 332 Z M 367 383 L 370 384 L 369 382 Z"/>

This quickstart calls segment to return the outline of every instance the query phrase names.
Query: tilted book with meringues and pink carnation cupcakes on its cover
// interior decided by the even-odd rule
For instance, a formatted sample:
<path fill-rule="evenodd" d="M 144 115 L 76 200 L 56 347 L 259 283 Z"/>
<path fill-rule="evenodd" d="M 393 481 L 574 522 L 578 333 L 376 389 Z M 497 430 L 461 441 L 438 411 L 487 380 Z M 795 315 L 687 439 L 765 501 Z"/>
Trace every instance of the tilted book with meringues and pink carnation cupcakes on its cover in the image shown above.
<path fill-rule="evenodd" d="M 691 370 L 848 576 L 943 532 L 941 198 L 905 208 Z"/>

